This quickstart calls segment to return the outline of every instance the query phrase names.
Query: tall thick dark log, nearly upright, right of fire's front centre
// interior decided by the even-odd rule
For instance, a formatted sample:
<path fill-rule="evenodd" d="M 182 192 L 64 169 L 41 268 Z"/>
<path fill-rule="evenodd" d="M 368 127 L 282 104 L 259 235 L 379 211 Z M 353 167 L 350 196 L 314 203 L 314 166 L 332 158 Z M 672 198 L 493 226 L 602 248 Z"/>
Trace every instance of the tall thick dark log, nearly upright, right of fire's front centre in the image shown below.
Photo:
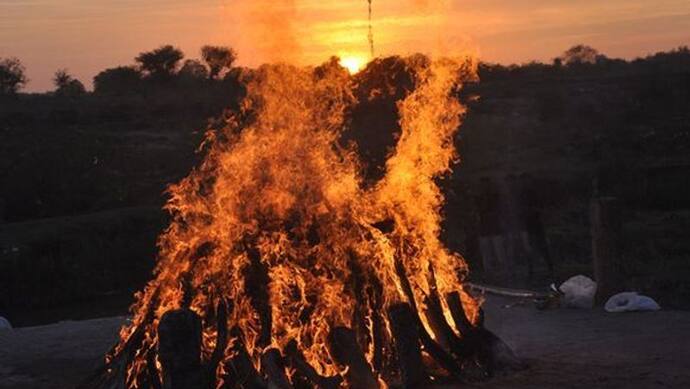
<path fill-rule="evenodd" d="M 424 388 L 429 377 L 424 371 L 419 345 L 417 318 L 409 304 L 396 304 L 388 310 L 395 350 L 404 388 Z"/>

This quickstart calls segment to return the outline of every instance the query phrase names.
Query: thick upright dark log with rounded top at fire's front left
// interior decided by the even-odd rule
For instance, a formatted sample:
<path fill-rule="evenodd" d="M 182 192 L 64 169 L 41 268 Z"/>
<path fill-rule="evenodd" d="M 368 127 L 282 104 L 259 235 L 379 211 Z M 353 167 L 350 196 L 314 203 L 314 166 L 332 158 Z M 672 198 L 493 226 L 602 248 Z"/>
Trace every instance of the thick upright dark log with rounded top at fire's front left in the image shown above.
<path fill-rule="evenodd" d="M 158 325 L 164 389 L 201 388 L 201 318 L 189 309 L 166 312 Z"/>

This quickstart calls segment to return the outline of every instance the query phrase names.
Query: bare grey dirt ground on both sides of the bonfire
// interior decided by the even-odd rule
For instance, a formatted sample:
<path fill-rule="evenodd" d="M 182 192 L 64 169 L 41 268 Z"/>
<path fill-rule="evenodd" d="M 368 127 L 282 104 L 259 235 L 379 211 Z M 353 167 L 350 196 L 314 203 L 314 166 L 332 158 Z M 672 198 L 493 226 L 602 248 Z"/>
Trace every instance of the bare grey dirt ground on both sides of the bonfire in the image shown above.
<path fill-rule="evenodd" d="M 516 304 L 517 302 L 517 304 Z M 487 326 L 529 365 L 476 388 L 690 388 L 690 312 L 537 311 L 491 297 Z M 0 331 L 0 388 L 73 388 L 125 318 Z"/>

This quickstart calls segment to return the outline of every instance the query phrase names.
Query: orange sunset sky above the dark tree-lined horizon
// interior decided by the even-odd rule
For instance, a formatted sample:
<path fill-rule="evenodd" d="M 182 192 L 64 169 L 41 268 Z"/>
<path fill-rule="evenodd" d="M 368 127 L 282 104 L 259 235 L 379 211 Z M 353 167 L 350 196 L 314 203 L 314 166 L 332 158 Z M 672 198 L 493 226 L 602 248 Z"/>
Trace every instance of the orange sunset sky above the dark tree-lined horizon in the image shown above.
<path fill-rule="evenodd" d="M 550 61 L 585 43 L 633 58 L 690 45 L 688 0 L 373 0 L 376 54 L 470 52 Z M 100 70 L 161 44 L 198 57 L 233 46 L 240 64 L 366 57 L 366 0 L 0 0 L 0 57 L 18 57 L 28 91 L 59 68 L 90 85 Z"/>

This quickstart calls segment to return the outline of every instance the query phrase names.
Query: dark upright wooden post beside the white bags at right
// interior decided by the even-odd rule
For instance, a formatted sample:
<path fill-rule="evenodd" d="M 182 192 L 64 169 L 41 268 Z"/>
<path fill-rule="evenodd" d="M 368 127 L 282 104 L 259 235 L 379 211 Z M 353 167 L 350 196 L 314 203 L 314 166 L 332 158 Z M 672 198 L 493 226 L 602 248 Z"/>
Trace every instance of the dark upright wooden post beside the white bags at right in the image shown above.
<path fill-rule="evenodd" d="M 590 206 L 592 260 L 597 282 L 595 302 L 602 304 L 624 290 L 620 264 L 621 215 L 615 197 L 595 197 Z"/>

